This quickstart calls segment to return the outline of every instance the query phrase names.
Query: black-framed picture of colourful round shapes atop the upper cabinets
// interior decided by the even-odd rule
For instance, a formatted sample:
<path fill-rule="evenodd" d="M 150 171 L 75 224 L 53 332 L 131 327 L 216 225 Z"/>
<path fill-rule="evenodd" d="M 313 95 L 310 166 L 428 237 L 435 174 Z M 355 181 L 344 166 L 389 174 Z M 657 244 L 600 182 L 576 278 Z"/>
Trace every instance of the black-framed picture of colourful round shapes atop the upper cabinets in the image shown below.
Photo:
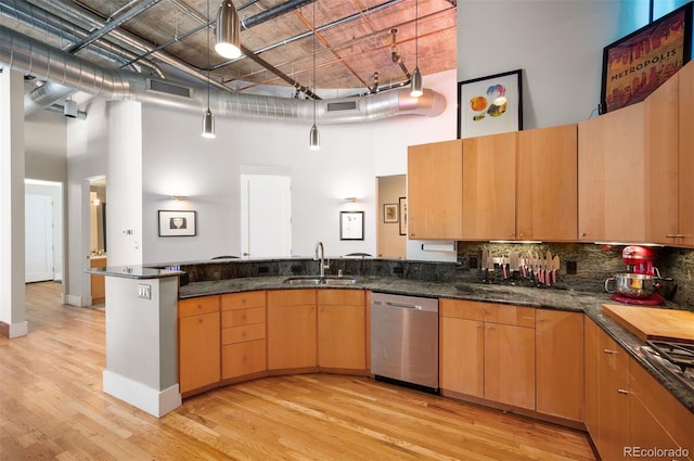
<path fill-rule="evenodd" d="M 458 138 L 523 129 L 520 69 L 458 84 Z"/>

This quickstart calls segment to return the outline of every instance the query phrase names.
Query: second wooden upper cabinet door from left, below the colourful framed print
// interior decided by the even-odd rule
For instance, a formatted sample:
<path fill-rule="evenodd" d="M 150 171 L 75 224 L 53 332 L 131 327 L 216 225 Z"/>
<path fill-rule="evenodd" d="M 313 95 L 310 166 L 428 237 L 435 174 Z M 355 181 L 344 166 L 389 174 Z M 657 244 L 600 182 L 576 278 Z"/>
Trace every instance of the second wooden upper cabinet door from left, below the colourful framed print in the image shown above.
<path fill-rule="evenodd" d="M 464 139 L 462 181 L 461 240 L 515 239 L 516 132 Z"/>

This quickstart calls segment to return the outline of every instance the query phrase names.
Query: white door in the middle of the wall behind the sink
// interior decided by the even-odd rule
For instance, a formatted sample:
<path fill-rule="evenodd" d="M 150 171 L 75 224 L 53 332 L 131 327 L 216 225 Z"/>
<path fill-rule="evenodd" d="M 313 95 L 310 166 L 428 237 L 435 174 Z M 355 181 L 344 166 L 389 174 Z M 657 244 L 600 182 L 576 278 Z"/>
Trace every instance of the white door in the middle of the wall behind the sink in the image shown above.
<path fill-rule="evenodd" d="M 292 180 L 241 176 L 241 251 L 244 257 L 292 256 Z"/>

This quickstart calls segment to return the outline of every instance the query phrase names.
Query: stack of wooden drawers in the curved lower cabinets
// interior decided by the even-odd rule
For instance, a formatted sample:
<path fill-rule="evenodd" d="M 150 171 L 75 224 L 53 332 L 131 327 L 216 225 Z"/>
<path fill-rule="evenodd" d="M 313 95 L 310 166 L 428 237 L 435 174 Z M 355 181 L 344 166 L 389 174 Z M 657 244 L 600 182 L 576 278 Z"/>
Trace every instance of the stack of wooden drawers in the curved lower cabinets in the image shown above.
<path fill-rule="evenodd" d="M 266 292 L 221 296 L 221 380 L 267 370 Z"/>

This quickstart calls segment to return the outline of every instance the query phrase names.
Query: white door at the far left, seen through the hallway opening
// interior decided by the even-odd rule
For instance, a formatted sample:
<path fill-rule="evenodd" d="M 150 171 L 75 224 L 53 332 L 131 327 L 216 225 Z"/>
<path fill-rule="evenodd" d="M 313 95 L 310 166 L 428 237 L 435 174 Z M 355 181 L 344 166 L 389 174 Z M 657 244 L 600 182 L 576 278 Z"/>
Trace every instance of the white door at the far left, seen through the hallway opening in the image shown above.
<path fill-rule="evenodd" d="M 25 281 L 53 280 L 53 200 L 25 196 Z"/>

